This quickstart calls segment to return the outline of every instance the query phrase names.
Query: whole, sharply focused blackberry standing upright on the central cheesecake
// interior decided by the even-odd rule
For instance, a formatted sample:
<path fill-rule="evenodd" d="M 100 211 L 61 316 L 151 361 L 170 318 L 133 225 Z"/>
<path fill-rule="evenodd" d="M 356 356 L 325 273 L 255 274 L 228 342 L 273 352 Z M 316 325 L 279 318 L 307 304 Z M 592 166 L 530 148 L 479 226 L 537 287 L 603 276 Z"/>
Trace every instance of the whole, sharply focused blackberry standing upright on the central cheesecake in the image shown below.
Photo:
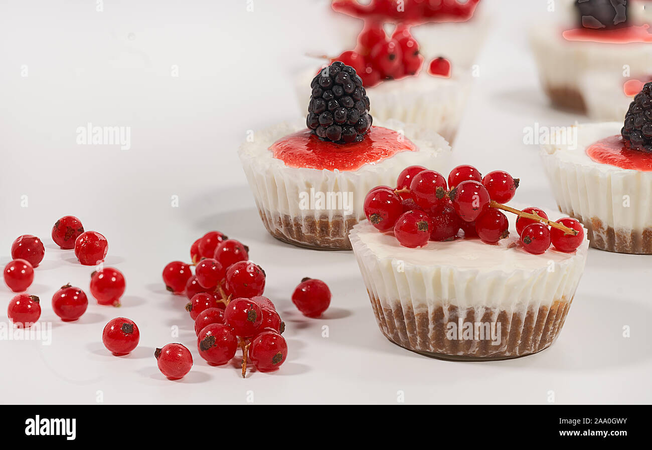
<path fill-rule="evenodd" d="M 341 61 L 325 67 L 310 83 L 306 125 L 322 141 L 360 142 L 369 131 L 369 97 L 355 69 Z"/>

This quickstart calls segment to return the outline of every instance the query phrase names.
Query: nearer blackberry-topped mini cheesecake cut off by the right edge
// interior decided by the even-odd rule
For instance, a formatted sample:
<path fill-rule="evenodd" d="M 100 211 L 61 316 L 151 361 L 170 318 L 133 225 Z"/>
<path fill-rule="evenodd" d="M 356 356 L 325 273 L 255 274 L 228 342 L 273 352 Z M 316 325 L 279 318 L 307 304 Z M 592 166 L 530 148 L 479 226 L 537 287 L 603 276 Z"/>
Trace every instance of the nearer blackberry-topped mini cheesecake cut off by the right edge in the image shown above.
<path fill-rule="evenodd" d="M 541 156 L 559 210 L 580 219 L 591 246 L 652 254 L 652 83 L 625 122 L 577 124 L 576 142 L 552 136 Z"/>

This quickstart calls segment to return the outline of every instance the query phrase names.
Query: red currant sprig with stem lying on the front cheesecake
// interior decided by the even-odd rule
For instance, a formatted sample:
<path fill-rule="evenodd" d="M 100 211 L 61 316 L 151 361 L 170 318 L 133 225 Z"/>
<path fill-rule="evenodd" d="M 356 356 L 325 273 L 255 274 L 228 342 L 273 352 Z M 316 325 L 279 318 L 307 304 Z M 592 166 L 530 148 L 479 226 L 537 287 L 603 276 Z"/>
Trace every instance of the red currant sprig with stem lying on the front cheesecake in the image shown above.
<path fill-rule="evenodd" d="M 575 251 L 584 240 L 584 229 L 575 219 L 552 222 L 539 208 L 520 211 L 503 204 L 514 197 L 518 182 L 505 171 L 482 177 L 472 165 L 452 169 L 447 182 L 436 171 L 413 165 L 400 173 L 396 188 L 370 190 L 364 214 L 379 231 L 393 231 L 402 246 L 422 247 L 428 240 L 454 240 L 460 229 L 465 238 L 478 236 L 496 244 L 509 235 L 504 210 L 518 214 L 516 229 L 527 252 L 544 253 L 551 242 L 559 251 Z"/>

